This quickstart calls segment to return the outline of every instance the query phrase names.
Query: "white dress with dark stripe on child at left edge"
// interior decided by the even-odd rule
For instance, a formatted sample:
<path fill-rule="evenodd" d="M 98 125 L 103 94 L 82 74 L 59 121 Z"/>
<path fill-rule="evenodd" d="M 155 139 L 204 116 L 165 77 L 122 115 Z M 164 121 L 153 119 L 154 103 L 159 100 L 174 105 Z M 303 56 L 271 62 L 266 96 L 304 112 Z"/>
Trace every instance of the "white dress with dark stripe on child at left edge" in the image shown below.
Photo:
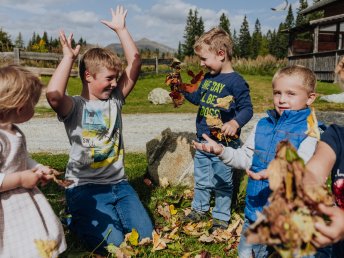
<path fill-rule="evenodd" d="M 0 173 L 3 174 L 32 166 L 25 136 L 16 129 L 16 135 L 0 130 Z M 51 257 L 66 249 L 62 225 L 42 192 L 37 187 L 0 192 L 0 257 L 42 257 L 36 246 L 40 241 L 53 247 Z"/>

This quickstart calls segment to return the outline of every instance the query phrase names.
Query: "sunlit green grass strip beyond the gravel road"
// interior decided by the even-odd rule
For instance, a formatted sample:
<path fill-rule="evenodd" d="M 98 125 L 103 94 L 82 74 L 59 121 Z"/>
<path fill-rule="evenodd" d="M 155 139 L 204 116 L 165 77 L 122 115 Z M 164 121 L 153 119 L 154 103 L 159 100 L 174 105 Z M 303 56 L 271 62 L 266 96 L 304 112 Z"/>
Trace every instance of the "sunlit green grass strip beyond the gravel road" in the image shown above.
<path fill-rule="evenodd" d="M 197 71 L 194 71 L 197 72 Z M 163 88 L 169 90 L 165 85 L 166 74 L 148 75 L 140 77 L 133 91 L 126 99 L 126 104 L 123 107 L 124 114 L 136 113 L 195 113 L 198 107 L 190 104 L 188 101 L 179 107 L 174 108 L 172 104 L 154 105 L 148 101 L 148 94 L 154 88 Z M 272 108 L 272 89 L 271 76 L 258 75 L 243 75 L 245 80 L 250 85 L 251 99 L 255 113 L 265 112 Z M 182 73 L 184 82 L 188 82 L 190 77 L 184 72 Z M 45 84 L 48 84 L 50 77 L 42 77 Z M 81 82 L 79 78 L 70 78 L 68 83 L 68 94 L 79 95 L 81 92 Z M 318 82 L 317 90 L 318 96 L 340 93 L 341 90 L 338 84 Z M 319 98 L 314 103 L 316 110 L 321 111 L 344 111 L 343 103 L 329 103 L 321 101 Z M 53 115 L 49 108 L 36 108 L 36 116 Z"/>

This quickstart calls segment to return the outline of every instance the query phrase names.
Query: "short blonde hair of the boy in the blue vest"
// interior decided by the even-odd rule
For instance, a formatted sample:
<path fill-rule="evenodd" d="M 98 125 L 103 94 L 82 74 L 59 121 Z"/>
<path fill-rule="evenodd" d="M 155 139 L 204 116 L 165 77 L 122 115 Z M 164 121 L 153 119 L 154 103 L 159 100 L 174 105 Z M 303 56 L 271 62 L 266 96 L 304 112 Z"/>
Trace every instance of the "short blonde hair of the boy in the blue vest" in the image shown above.
<path fill-rule="evenodd" d="M 300 79 L 302 86 L 308 93 L 314 93 L 317 85 L 317 78 L 314 72 L 302 65 L 292 65 L 278 70 L 272 78 L 272 86 L 277 79 L 282 76 L 297 76 Z"/>

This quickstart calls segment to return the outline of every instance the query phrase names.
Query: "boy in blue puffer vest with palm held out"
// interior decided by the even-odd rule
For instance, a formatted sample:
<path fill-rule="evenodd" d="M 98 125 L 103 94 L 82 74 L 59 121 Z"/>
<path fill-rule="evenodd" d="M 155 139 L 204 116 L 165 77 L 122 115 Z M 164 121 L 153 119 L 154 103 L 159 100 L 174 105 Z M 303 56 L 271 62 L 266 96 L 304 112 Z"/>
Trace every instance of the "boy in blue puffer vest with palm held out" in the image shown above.
<path fill-rule="evenodd" d="M 260 119 L 238 149 L 223 147 L 203 135 L 207 143 L 194 143 L 194 147 L 217 155 L 225 164 L 246 169 L 249 174 L 264 174 L 268 164 L 274 159 L 276 147 L 282 140 L 289 140 L 298 154 L 307 162 L 314 153 L 317 139 L 306 134 L 309 106 L 315 100 L 316 77 L 303 66 L 290 66 L 279 70 L 272 79 L 274 109 Z M 250 170 L 248 170 L 250 169 Z M 239 257 L 269 257 L 273 248 L 263 244 L 246 242 L 245 231 L 262 212 L 271 193 L 267 179 L 248 178 L 246 187 L 245 220 L 239 243 Z M 325 250 L 326 251 L 326 250 Z"/>

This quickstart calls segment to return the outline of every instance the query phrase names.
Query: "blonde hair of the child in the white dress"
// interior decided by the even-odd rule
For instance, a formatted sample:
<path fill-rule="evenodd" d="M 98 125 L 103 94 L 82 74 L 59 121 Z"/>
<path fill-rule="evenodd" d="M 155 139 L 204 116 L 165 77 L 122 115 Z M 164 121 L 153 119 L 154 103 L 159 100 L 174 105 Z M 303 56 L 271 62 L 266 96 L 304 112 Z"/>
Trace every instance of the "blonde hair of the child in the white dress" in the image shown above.
<path fill-rule="evenodd" d="M 19 65 L 0 67 L 0 114 L 9 114 L 28 103 L 34 107 L 42 87 L 37 76 Z"/>

